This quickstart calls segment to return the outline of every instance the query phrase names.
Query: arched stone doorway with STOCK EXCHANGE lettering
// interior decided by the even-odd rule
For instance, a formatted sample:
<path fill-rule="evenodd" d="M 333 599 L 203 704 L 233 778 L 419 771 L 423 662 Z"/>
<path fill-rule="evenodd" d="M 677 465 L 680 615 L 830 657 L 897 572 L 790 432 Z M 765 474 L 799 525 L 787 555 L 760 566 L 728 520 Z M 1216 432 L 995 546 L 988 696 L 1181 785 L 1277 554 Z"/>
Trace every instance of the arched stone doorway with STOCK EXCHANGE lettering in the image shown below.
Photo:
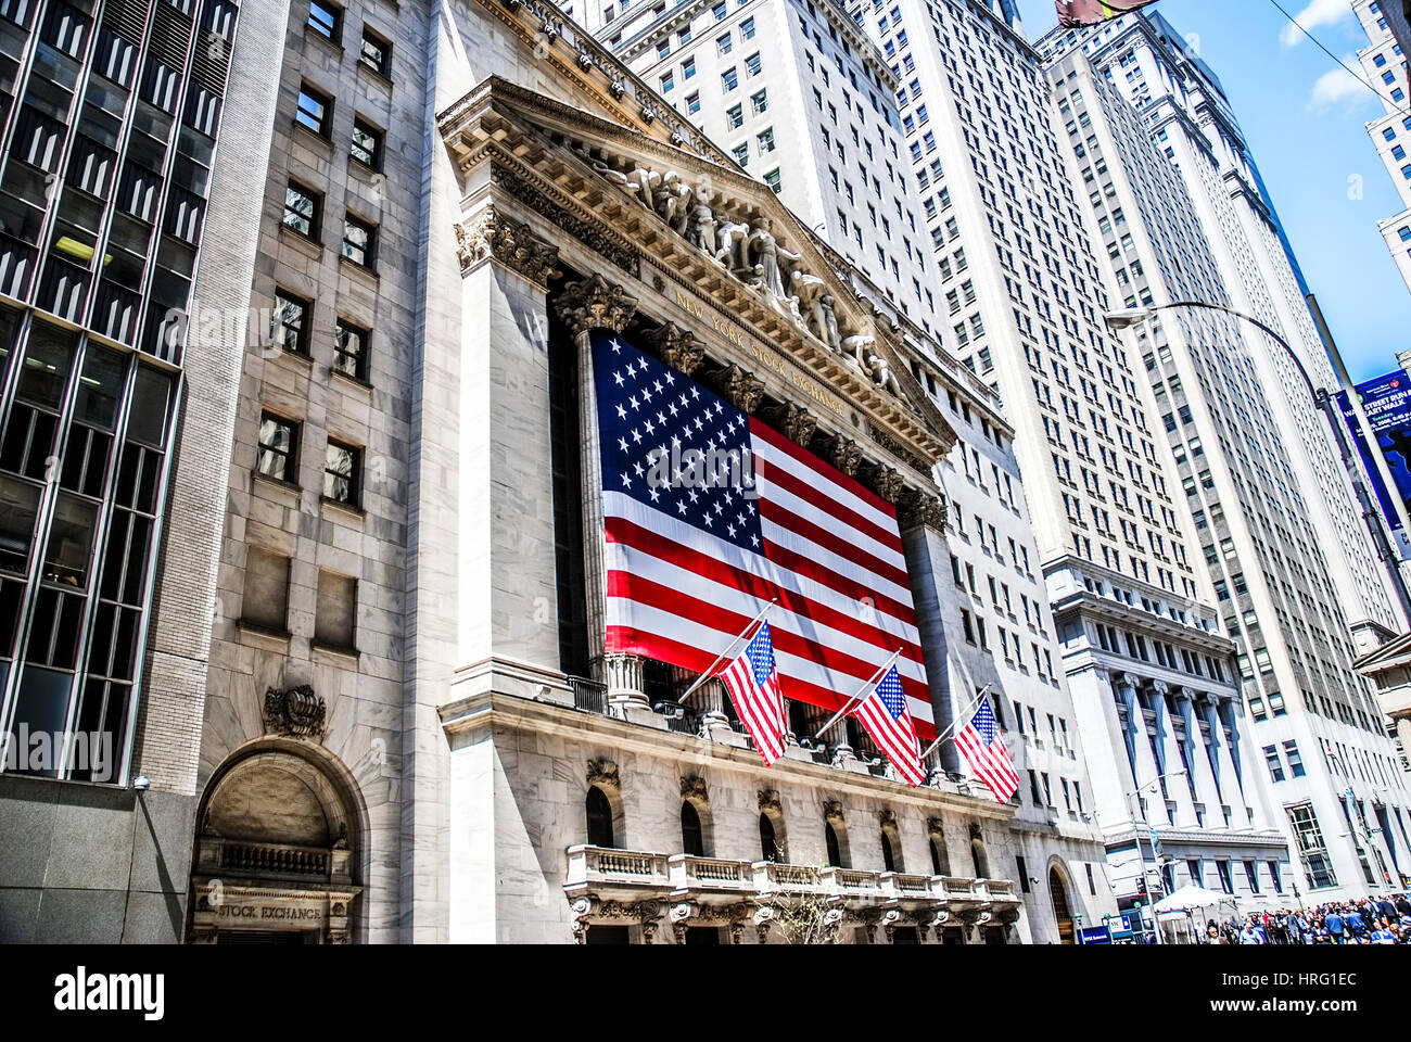
<path fill-rule="evenodd" d="M 189 939 L 349 943 L 363 833 L 350 784 L 282 743 L 227 761 L 200 805 Z"/>

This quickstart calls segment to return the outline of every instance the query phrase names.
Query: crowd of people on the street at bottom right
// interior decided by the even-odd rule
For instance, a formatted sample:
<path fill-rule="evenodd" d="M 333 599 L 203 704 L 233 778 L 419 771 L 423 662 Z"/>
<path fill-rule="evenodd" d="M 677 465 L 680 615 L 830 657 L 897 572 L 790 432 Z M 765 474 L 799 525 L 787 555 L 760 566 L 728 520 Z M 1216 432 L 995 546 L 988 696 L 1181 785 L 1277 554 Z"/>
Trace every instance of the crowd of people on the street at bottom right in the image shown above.
<path fill-rule="evenodd" d="M 1411 898 L 1331 901 L 1205 925 L 1206 945 L 1411 945 Z"/>

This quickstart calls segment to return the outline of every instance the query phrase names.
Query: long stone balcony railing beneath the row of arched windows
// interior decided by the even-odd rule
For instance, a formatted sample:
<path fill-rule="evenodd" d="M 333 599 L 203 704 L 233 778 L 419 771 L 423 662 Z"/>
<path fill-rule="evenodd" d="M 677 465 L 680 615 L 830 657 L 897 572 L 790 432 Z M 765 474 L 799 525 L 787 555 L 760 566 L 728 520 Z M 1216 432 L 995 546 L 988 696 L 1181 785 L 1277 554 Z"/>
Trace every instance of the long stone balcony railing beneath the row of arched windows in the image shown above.
<path fill-rule="evenodd" d="M 955 911 L 1019 904 L 1012 880 L 919 875 L 864 868 L 813 868 L 694 854 L 569 847 L 564 890 L 619 899 L 821 897 L 845 905 L 950 906 Z"/>

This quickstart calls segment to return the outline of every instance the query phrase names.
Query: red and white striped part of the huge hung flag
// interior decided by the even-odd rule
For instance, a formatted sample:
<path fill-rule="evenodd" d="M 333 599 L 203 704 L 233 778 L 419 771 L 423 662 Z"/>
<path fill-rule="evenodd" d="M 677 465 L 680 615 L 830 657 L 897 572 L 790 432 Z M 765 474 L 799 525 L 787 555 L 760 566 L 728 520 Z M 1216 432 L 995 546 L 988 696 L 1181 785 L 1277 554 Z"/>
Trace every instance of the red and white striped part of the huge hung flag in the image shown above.
<path fill-rule="evenodd" d="M 896 508 L 759 421 L 749 431 L 759 551 L 604 493 L 607 649 L 703 671 L 777 597 L 769 623 L 790 699 L 837 712 L 900 648 L 917 734 L 934 737 Z"/>

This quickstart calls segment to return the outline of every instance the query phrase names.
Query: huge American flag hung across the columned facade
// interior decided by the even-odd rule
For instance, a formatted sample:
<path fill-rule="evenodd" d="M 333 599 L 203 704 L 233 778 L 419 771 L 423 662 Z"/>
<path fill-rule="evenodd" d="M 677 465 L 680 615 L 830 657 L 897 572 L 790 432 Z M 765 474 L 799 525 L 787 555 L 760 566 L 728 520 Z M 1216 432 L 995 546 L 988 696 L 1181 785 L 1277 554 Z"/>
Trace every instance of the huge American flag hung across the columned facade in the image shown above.
<path fill-rule="evenodd" d="M 593 333 L 593 361 L 607 651 L 700 672 L 777 599 L 790 699 L 842 709 L 900 648 L 907 709 L 934 737 L 896 510 L 611 330 Z M 753 481 L 689 480 L 690 449 L 748 457 Z"/>

